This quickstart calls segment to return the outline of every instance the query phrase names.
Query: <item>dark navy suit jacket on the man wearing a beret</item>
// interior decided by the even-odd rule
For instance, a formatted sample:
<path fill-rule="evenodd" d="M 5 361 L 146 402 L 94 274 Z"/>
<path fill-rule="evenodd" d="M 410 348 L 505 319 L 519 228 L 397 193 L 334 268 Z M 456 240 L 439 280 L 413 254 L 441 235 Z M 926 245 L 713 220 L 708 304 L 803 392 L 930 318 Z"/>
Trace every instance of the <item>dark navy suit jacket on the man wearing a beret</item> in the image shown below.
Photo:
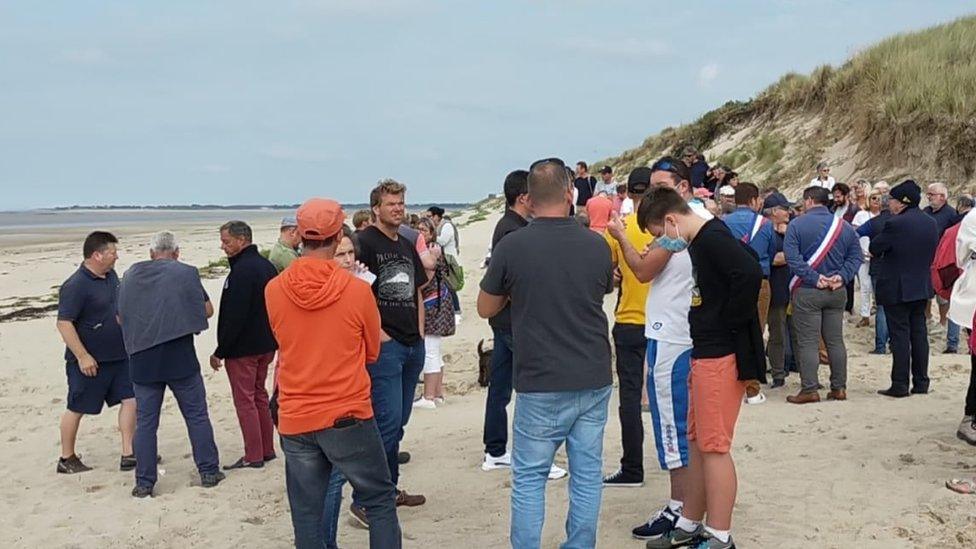
<path fill-rule="evenodd" d="M 939 228 L 922 210 L 909 208 L 889 217 L 868 248 L 881 258 L 874 287 L 878 305 L 931 299 L 935 290 L 929 266 L 938 246 Z"/>

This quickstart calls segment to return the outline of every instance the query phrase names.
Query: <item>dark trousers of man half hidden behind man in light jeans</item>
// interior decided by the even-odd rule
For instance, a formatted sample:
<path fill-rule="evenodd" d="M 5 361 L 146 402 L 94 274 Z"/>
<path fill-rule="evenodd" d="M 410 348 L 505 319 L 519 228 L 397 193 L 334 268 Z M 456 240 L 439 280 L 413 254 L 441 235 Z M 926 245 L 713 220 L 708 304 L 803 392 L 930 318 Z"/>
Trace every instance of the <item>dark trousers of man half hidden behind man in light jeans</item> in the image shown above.
<path fill-rule="evenodd" d="M 485 453 L 505 455 L 508 446 L 508 411 L 512 401 L 512 332 L 492 328 L 495 348 L 488 373 L 488 398 L 485 400 Z"/>

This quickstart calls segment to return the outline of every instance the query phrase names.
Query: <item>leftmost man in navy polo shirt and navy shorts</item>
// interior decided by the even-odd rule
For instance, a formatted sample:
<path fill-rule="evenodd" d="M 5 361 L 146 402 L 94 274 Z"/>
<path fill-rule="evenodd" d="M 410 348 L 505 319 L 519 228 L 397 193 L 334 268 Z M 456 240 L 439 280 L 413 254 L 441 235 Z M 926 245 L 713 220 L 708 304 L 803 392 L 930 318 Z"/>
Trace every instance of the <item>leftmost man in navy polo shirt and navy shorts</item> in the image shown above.
<path fill-rule="evenodd" d="M 129 363 L 122 343 L 122 330 L 115 317 L 119 277 L 115 274 L 118 240 L 95 231 L 85 238 L 85 261 L 61 285 L 58 294 L 58 332 L 66 345 L 64 359 L 68 376 L 68 409 L 61 416 L 61 458 L 59 473 L 90 471 L 75 454 L 75 440 L 81 417 L 99 414 L 102 404 L 121 403 L 119 431 L 122 432 L 120 468 L 136 465 L 132 455 L 132 434 L 136 428 L 136 401 L 129 380 Z"/>

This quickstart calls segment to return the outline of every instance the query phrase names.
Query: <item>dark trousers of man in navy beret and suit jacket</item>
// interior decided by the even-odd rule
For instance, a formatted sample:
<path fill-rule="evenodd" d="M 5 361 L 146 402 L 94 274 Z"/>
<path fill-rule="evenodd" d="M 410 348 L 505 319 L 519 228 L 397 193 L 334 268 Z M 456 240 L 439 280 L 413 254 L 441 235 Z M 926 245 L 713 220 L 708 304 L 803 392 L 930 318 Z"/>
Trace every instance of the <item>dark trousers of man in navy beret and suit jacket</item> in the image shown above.
<path fill-rule="evenodd" d="M 925 326 L 926 300 L 885 305 L 891 338 L 891 387 L 908 390 L 908 374 L 916 391 L 929 389 L 929 338 Z"/>

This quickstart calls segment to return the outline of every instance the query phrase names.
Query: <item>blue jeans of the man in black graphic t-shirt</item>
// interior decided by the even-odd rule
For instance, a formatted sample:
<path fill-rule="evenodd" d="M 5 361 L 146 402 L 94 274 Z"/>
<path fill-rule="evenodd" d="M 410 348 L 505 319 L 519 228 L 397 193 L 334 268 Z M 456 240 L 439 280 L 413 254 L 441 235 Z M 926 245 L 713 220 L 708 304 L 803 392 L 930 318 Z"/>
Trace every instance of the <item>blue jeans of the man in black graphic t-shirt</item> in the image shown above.
<path fill-rule="evenodd" d="M 400 441 L 403 428 L 410 421 L 413 411 L 413 396 L 417 381 L 424 370 L 424 340 L 407 346 L 391 339 L 380 346 L 380 356 L 376 362 L 366 365 L 371 382 L 370 397 L 373 400 L 373 415 L 376 426 L 383 439 L 383 450 L 390 468 L 390 480 L 396 486 L 400 481 Z M 353 499 L 360 504 L 354 492 Z"/>

